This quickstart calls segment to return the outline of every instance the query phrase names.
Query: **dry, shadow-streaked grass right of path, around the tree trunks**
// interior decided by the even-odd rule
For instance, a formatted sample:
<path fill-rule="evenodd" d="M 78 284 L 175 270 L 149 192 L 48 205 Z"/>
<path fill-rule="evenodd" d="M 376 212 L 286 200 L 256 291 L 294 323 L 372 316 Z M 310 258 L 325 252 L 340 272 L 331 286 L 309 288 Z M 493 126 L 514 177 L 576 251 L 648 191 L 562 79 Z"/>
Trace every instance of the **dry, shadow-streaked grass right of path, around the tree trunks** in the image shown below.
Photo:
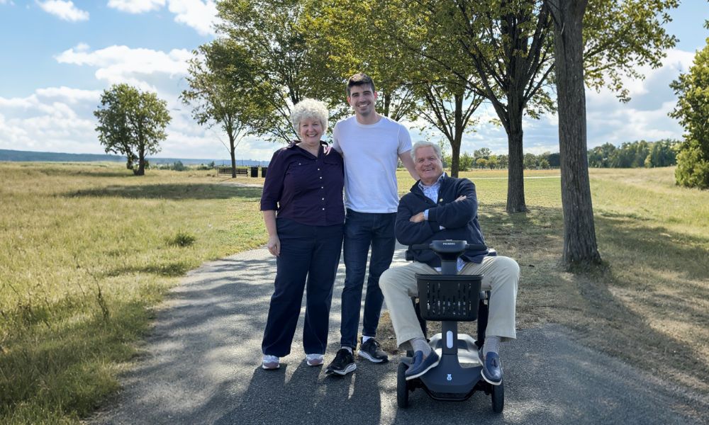
<path fill-rule="evenodd" d="M 605 264 L 574 274 L 559 264 L 560 180 L 526 180 L 530 212 L 508 215 L 506 181 L 484 179 L 494 174 L 462 176 L 476 183 L 489 245 L 522 267 L 518 327 L 562 324 L 584 344 L 709 395 L 709 192 L 674 186 L 672 168 L 592 169 Z M 390 327 L 385 314 L 381 336 L 393 351 Z"/>

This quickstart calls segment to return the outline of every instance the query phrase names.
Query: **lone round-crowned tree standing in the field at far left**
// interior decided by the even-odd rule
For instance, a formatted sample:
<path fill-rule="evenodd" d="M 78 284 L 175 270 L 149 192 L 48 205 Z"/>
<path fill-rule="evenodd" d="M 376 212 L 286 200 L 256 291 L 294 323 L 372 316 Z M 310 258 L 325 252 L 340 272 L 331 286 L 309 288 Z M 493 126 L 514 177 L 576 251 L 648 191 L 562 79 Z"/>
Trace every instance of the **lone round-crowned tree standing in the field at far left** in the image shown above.
<path fill-rule="evenodd" d="M 142 92 L 128 84 L 114 84 L 101 94 L 94 115 L 99 120 L 96 126 L 99 142 L 106 153 L 125 155 L 126 167 L 135 176 L 143 176 L 145 157 L 160 152 L 160 141 L 167 137 L 165 128 L 171 120 L 167 102 L 155 93 Z"/>

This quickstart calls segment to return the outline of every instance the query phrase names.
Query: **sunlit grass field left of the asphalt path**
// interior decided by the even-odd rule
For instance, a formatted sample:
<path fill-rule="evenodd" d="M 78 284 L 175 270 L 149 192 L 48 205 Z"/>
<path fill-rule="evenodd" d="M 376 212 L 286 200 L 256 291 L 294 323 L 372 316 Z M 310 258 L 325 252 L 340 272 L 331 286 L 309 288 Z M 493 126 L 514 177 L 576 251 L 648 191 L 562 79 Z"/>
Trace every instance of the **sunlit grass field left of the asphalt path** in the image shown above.
<path fill-rule="evenodd" d="M 0 423 L 77 422 L 116 390 L 168 288 L 264 243 L 260 188 L 131 174 L 0 164 Z"/>

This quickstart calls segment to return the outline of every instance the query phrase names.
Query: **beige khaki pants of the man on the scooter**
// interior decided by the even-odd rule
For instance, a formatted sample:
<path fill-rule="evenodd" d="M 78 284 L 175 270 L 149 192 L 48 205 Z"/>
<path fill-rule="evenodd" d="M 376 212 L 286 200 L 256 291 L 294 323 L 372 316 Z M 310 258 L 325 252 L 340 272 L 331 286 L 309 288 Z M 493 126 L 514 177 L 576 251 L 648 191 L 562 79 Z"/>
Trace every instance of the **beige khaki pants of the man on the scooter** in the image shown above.
<path fill-rule="evenodd" d="M 411 302 L 411 297 L 418 295 L 416 273 L 440 274 L 428 264 L 413 262 L 389 268 L 379 278 L 379 287 L 384 293 L 396 333 L 396 344 L 401 349 L 410 348 L 408 341 L 411 339 L 423 338 Z M 517 262 L 506 256 L 486 256 L 480 264 L 467 263 L 459 274 L 483 275 L 481 288 L 491 291 L 486 335 L 500 336 L 501 341 L 516 338 L 515 304 L 520 279 L 520 266 Z"/>

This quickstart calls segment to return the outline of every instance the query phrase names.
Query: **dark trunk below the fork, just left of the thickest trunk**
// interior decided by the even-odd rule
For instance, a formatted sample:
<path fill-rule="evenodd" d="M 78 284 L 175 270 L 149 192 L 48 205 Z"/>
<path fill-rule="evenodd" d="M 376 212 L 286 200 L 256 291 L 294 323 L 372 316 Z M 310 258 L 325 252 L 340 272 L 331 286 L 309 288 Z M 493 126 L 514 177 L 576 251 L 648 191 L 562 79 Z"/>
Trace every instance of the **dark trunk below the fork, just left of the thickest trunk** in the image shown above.
<path fill-rule="evenodd" d="M 507 212 L 527 212 L 525 203 L 525 155 L 522 150 L 522 111 L 513 113 L 510 108 L 510 128 L 507 144 L 510 153 L 507 181 Z"/>

